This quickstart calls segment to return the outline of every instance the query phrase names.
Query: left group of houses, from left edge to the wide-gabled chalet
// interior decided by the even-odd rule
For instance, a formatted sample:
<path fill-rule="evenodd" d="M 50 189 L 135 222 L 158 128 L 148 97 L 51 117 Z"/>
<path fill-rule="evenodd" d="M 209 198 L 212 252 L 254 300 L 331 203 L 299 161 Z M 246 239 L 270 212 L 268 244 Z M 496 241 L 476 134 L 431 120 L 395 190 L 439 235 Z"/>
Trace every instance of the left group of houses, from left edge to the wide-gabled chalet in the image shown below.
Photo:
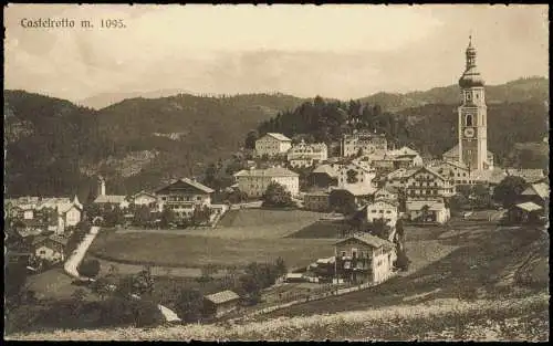
<path fill-rule="evenodd" d="M 105 179 L 98 177 L 97 197 L 93 205 L 98 207 L 101 213 L 114 208 L 128 212 L 133 206 L 147 206 L 150 212 L 155 213 L 168 208 L 174 211 L 176 218 L 181 219 L 190 218 L 196 208 L 205 208 L 209 211 L 206 224 L 213 224 L 228 210 L 228 206 L 211 203 L 212 193 L 211 188 L 194 179 L 182 178 L 153 192 L 140 191 L 134 196 L 106 195 Z M 31 259 L 53 263 L 65 259 L 65 245 L 74 227 L 86 218 L 83 205 L 76 196 L 73 199 L 41 197 L 6 199 L 4 210 L 12 222 L 11 227 L 21 237 L 32 237 L 32 251 L 29 253 Z M 126 216 L 134 217 L 132 213 Z"/>

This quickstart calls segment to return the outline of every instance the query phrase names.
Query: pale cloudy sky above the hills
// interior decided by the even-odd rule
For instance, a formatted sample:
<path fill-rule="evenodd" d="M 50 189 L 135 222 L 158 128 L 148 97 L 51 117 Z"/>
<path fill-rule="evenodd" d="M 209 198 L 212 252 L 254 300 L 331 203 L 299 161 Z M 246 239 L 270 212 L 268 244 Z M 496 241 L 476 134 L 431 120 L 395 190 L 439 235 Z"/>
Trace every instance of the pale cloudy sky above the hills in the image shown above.
<path fill-rule="evenodd" d="M 4 90 L 281 92 L 342 99 L 456 84 L 468 36 L 487 84 L 549 75 L 547 6 L 9 4 Z M 22 28 L 72 19 L 75 28 Z M 126 28 L 102 29 L 102 19 Z M 94 28 L 80 28 L 90 20 Z"/>

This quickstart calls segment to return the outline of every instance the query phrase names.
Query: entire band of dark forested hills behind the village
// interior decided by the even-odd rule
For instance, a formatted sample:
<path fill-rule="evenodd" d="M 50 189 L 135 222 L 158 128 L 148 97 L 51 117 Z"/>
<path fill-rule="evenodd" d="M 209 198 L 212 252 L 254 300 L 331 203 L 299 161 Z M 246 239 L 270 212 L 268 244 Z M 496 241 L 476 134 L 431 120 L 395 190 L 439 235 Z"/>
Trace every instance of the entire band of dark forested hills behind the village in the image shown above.
<path fill-rule="evenodd" d="M 307 134 L 331 143 L 353 127 L 364 127 L 386 134 L 396 145 L 437 156 L 457 141 L 453 98 L 458 90 L 452 90 L 456 96 L 447 103 L 431 99 L 446 99 L 437 95 L 448 88 L 419 93 L 427 94 L 428 104 L 399 111 L 364 101 L 282 94 L 180 94 L 125 99 L 95 111 L 64 99 L 4 91 L 6 196 L 79 192 L 85 200 L 91 177 L 98 172 L 107 178 L 108 193 L 132 193 L 170 178 L 199 176 L 209 164 L 244 146 L 248 133 L 255 128 L 259 134 Z M 549 134 L 549 84 L 519 80 L 487 87 L 487 92 L 488 99 L 499 101 L 488 105 L 489 149 L 497 160 L 521 166 L 546 162 L 543 145 L 536 151 L 528 143 L 542 141 Z M 521 149 L 521 143 L 528 145 Z M 528 150 L 538 156 L 525 160 Z"/>

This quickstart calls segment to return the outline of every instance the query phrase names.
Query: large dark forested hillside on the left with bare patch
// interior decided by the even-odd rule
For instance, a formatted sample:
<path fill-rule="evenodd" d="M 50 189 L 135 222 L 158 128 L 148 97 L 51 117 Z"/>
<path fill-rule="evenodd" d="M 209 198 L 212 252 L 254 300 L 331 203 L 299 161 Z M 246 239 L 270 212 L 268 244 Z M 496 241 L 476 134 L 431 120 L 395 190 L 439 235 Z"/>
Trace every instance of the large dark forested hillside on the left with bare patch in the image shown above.
<path fill-rule="evenodd" d="M 4 99 L 9 196 L 71 195 L 98 172 L 108 193 L 195 175 L 202 162 L 238 150 L 259 122 L 302 102 L 282 94 L 182 94 L 94 111 L 22 91 L 6 91 Z"/>

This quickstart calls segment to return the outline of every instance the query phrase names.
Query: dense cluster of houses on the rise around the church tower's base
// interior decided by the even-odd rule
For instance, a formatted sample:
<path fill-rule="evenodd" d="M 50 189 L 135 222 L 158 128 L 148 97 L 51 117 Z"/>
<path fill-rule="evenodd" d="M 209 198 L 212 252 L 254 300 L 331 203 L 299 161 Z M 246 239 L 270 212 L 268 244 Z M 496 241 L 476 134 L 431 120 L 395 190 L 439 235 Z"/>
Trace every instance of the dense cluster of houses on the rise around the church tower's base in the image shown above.
<path fill-rule="evenodd" d="M 472 169 L 459 160 L 458 149 L 448 150 L 440 160 L 424 160 L 409 148 L 389 149 L 386 137 L 366 130 L 354 130 L 341 140 L 341 157 L 327 157 L 326 145 L 292 140 L 282 134 L 269 133 L 255 143 L 257 156 L 281 158 L 282 166 L 241 170 L 234 175 L 238 188 L 249 197 L 259 198 L 272 181 L 279 182 L 303 208 L 314 211 L 343 211 L 344 206 L 366 210 L 367 219 L 384 217 L 389 224 L 404 216 L 414 222 L 445 223 L 450 218 L 447 199 L 460 185 L 482 184 L 490 188 L 507 176 L 526 181 L 543 179 L 540 169 L 501 169 L 493 166 L 489 153 L 488 169 Z M 285 160 L 285 161 L 284 161 Z M 296 167 L 311 167 L 307 186 L 300 191 Z M 399 196 L 405 207 L 399 208 Z"/>

